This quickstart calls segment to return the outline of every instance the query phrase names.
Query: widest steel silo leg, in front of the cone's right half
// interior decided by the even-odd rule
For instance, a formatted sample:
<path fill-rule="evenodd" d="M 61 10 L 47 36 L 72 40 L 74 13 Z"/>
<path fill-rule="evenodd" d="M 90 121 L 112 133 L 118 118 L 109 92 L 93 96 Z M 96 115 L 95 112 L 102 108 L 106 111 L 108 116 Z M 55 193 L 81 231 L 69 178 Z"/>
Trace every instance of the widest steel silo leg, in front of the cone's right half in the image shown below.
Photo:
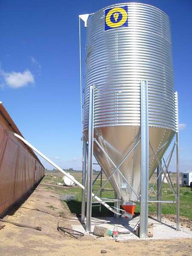
<path fill-rule="evenodd" d="M 148 231 L 148 85 L 141 81 L 141 196 L 140 238 L 147 238 Z"/>

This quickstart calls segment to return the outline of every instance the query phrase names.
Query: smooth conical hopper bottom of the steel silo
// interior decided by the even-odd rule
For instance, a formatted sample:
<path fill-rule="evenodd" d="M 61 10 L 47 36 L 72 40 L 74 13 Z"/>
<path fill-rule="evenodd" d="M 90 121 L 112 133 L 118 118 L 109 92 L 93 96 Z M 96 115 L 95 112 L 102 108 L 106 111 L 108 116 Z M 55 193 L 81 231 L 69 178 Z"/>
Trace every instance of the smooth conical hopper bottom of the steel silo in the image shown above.
<path fill-rule="evenodd" d="M 87 132 L 87 130 L 84 131 L 88 139 Z M 174 131 L 169 129 L 149 127 L 149 142 L 159 159 L 163 157 L 174 134 Z M 118 166 L 128 151 L 130 151 L 134 144 L 140 139 L 140 126 L 108 126 L 95 128 L 94 138 L 96 138 L 113 163 Z M 105 175 L 109 177 L 114 170 L 114 166 L 96 143 L 94 143 L 93 151 Z M 157 165 L 157 160 L 149 147 L 149 178 L 154 173 Z M 140 195 L 140 167 L 141 145 L 139 144 L 119 167 L 119 171 L 122 172 L 138 195 Z M 137 196 L 127 185 L 125 179 L 119 175 L 118 171 L 111 177 L 110 183 L 116 195 L 123 201 L 137 200 Z"/>

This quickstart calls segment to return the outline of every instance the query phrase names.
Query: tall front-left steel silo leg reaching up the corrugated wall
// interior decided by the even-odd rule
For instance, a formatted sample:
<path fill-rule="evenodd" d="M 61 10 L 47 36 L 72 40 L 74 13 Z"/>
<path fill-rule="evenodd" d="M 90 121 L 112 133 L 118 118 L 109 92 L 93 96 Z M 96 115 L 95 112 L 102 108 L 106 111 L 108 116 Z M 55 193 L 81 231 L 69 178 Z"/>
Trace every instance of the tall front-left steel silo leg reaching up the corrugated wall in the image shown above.
<path fill-rule="evenodd" d="M 86 231 L 91 232 L 91 207 L 93 183 L 93 131 L 94 131 L 94 85 L 89 92 L 89 135 L 88 135 L 88 168 L 87 168 L 87 214 Z"/>

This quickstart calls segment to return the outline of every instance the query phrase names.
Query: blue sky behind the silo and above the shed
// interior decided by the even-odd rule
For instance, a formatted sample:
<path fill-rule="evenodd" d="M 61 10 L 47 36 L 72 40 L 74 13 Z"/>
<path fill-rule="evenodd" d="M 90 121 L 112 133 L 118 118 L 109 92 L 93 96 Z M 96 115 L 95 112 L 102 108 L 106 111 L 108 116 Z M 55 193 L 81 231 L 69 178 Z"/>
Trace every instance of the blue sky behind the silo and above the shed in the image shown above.
<path fill-rule="evenodd" d="M 0 101 L 24 137 L 63 168 L 81 169 L 78 16 L 121 2 L 0 0 Z M 171 19 L 180 169 L 191 170 L 192 1 L 135 2 Z M 82 26 L 82 62 L 84 44 Z"/>

